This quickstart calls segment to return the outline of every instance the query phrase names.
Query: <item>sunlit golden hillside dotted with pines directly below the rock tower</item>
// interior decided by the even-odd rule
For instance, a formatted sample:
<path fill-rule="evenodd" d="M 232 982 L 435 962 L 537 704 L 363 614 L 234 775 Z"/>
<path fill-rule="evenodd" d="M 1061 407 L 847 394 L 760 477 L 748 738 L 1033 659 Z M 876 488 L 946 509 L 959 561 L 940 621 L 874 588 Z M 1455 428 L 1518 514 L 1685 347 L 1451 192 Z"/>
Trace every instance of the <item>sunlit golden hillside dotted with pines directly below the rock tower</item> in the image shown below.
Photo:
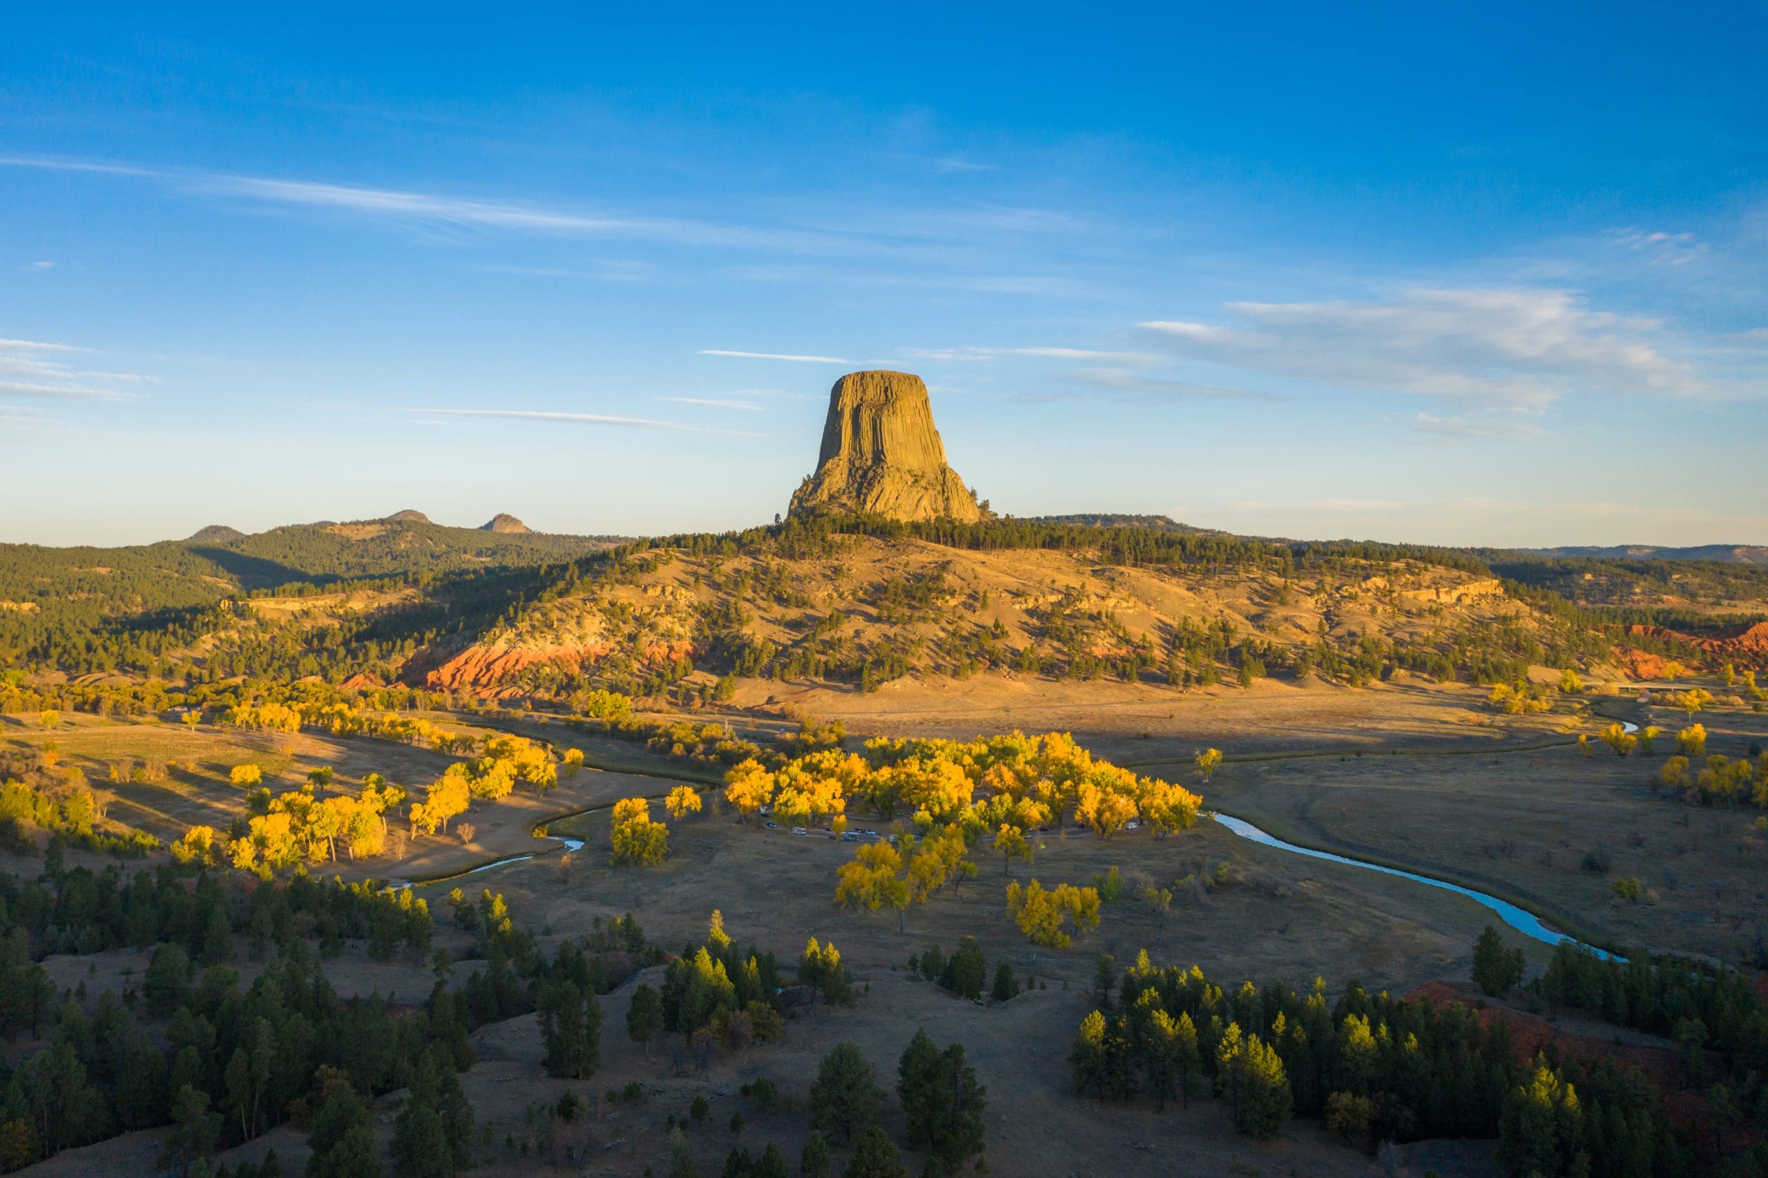
<path fill-rule="evenodd" d="M 1358 683 L 1397 667 L 1513 677 L 1607 653 L 1490 575 L 1418 559 L 1124 564 L 1096 548 L 843 536 L 790 555 L 652 548 L 539 596 L 401 677 L 502 695 L 654 692 L 695 670 L 861 688 L 992 672 Z"/>

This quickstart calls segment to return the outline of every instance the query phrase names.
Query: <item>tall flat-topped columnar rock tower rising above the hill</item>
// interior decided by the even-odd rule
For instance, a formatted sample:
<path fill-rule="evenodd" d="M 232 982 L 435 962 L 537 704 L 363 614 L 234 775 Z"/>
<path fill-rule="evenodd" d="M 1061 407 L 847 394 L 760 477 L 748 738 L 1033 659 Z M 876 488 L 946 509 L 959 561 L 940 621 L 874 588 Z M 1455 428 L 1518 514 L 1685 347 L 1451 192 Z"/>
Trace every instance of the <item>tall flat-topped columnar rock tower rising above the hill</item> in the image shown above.
<path fill-rule="evenodd" d="M 817 472 L 792 495 L 792 515 L 824 511 L 960 524 L 988 516 L 946 465 L 919 377 L 850 371 L 829 389 Z"/>

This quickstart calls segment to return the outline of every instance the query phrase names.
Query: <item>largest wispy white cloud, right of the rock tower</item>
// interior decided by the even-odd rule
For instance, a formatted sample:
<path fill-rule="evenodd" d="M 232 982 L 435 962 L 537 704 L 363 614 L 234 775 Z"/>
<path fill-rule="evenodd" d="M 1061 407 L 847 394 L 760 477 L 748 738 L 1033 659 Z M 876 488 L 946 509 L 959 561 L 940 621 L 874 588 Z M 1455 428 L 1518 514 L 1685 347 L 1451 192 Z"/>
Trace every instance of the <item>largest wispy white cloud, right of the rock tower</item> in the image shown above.
<path fill-rule="evenodd" d="M 1229 302 L 1246 325 L 1140 324 L 1190 359 L 1344 389 L 1540 409 L 1568 393 L 1708 391 L 1653 343 L 1662 324 L 1570 290 L 1409 290 L 1386 302 Z"/>

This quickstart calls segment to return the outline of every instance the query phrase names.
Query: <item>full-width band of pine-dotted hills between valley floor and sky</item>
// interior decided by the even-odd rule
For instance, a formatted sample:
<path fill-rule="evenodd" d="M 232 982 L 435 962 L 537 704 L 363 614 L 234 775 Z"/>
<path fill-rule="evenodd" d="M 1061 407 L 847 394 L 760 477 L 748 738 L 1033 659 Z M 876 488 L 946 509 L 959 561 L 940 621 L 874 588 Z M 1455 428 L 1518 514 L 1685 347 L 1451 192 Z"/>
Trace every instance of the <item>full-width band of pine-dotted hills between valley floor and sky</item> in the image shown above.
<path fill-rule="evenodd" d="M 1683 617 L 1688 603 L 1703 612 Z M 990 669 L 1512 681 L 1618 646 L 1697 665 L 1717 656 L 1701 642 L 1764 603 L 1768 570 L 1747 564 L 1273 541 L 1165 516 L 819 516 L 613 543 L 401 513 L 127 548 L 0 545 L 0 674 L 640 693 L 695 670 L 866 688 Z"/>

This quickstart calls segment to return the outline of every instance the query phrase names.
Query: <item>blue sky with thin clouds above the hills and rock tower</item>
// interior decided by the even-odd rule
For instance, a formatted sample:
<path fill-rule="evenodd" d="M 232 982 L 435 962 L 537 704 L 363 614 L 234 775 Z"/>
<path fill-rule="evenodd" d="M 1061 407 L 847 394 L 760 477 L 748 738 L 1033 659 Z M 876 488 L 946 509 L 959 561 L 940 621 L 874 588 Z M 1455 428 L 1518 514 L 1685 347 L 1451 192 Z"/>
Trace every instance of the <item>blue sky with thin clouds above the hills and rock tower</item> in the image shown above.
<path fill-rule="evenodd" d="M 0 539 L 737 527 L 891 366 L 997 511 L 1768 543 L 1759 2 L 179 7 L 0 39 Z"/>

